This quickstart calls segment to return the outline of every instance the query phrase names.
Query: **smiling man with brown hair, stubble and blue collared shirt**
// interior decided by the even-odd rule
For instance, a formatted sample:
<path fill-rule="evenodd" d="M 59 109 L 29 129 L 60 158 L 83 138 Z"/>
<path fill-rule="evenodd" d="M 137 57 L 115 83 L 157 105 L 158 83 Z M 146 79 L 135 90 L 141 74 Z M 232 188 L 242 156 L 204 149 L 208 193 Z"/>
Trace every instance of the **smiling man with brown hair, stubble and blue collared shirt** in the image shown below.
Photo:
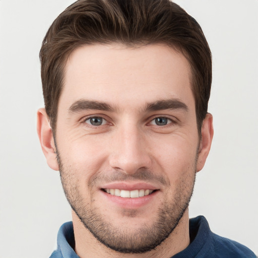
<path fill-rule="evenodd" d="M 211 53 L 166 0 L 81 0 L 42 44 L 38 135 L 73 223 L 51 257 L 255 257 L 189 221 L 213 138 Z"/>

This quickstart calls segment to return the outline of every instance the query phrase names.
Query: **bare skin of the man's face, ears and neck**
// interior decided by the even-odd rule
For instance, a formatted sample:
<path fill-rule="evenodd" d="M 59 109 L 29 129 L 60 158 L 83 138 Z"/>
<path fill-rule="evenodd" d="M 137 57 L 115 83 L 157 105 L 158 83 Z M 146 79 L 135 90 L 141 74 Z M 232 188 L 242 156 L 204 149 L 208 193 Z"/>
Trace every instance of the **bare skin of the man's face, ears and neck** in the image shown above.
<path fill-rule="evenodd" d="M 200 141 L 190 73 L 184 55 L 165 45 L 90 45 L 69 57 L 56 146 L 44 109 L 38 111 L 38 135 L 74 209 L 80 257 L 171 257 L 189 244 L 187 206 L 213 137 L 212 115 L 207 114 Z M 92 125 L 90 117 L 101 117 L 102 124 Z M 167 124 L 157 124 L 158 117 Z M 120 197 L 114 202 L 102 190 L 112 184 L 156 191 L 142 203 Z M 159 222 L 170 231 L 148 252 L 120 253 L 100 242 L 110 246 L 119 236 L 124 248 L 144 245 Z M 92 234 L 87 223 L 98 232 Z M 103 225 L 108 237 L 101 235 Z"/>

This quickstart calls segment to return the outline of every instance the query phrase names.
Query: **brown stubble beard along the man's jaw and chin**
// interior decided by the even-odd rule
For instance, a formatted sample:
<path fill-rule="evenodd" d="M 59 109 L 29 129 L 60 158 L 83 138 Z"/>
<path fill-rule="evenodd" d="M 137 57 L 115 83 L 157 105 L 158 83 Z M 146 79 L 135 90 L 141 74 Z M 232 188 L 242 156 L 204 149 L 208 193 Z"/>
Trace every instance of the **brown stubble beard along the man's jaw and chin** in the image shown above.
<path fill-rule="evenodd" d="M 90 203 L 85 203 L 84 196 L 81 195 L 77 188 L 80 178 L 76 178 L 75 171 L 64 167 L 57 151 L 56 157 L 63 190 L 71 208 L 85 228 L 99 242 L 120 253 L 144 253 L 160 245 L 179 224 L 189 205 L 195 184 L 197 158 L 195 163 L 192 164 L 191 173 L 186 173 L 187 177 L 181 178 L 177 184 L 176 194 L 172 200 L 171 198 L 163 198 L 161 208 L 158 210 L 152 225 L 142 225 L 132 231 L 130 228 L 121 228 L 106 221 L 105 217 L 97 209 L 92 209 Z M 145 173 L 144 177 L 148 177 L 150 174 L 149 172 L 143 173 Z M 140 175 L 139 177 L 142 176 Z M 92 200 L 91 196 L 92 201 L 94 200 Z M 136 213 L 137 211 L 135 210 L 129 210 L 123 216 L 132 218 L 136 216 Z"/>

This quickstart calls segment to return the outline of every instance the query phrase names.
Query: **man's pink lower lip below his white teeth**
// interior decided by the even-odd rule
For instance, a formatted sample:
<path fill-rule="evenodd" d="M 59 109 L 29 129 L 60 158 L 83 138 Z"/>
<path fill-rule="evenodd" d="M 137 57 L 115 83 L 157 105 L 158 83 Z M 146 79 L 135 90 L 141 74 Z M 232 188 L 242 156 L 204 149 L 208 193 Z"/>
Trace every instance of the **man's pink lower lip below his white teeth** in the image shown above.
<path fill-rule="evenodd" d="M 139 198 L 123 198 L 119 196 L 112 196 L 110 193 L 107 193 L 101 190 L 102 195 L 104 196 L 105 200 L 108 202 L 112 202 L 115 205 L 119 206 L 123 209 L 138 209 L 147 204 L 150 204 L 155 197 L 157 197 L 159 190 L 152 192 L 148 196 L 143 196 Z"/>

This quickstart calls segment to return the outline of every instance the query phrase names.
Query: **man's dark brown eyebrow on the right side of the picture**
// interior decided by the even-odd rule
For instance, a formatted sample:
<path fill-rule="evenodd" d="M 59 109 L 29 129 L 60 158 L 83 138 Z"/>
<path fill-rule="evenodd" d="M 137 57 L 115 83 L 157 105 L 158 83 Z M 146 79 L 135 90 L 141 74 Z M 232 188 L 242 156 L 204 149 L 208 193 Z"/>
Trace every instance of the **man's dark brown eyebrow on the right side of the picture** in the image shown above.
<path fill-rule="evenodd" d="M 165 99 L 148 103 L 145 111 L 158 111 L 165 109 L 181 109 L 186 112 L 188 111 L 186 104 L 178 99 Z"/>

